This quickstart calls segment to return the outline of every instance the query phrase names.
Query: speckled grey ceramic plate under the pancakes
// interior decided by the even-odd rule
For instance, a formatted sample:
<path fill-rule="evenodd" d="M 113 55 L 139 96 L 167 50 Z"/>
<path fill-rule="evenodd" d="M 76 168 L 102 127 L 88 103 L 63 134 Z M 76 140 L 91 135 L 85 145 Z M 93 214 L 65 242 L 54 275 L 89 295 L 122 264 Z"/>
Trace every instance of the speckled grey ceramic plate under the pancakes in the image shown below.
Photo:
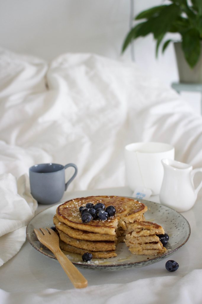
<path fill-rule="evenodd" d="M 190 225 L 184 216 L 164 205 L 145 200 L 140 201 L 148 207 L 148 210 L 145 213 L 146 220 L 161 225 L 164 228 L 165 233 L 169 235 L 166 253 L 158 256 L 134 255 L 130 253 L 125 243 L 120 243 L 117 246 L 117 257 L 111 257 L 108 259 L 92 259 L 89 264 L 83 262 L 81 255 L 79 254 L 66 253 L 65 251 L 64 253 L 73 264 L 80 268 L 113 271 L 128 269 L 131 267 L 143 267 L 156 263 L 165 257 L 167 258 L 187 242 L 190 237 Z M 33 219 L 31 219 L 26 230 L 30 244 L 45 256 L 55 260 L 55 255 L 38 241 L 34 233 L 34 228 L 53 226 L 53 216 L 55 215 L 55 210 L 58 205 L 51 206 L 50 208 L 38 213 Z"/>

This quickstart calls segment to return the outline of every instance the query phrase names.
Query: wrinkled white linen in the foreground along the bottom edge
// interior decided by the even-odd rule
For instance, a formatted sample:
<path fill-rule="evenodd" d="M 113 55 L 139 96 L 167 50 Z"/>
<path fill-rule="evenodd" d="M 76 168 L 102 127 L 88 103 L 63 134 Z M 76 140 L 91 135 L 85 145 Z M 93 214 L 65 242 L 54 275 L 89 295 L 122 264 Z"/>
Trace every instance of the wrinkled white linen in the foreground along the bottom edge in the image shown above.
<path fill-rule="evenodd" d="M 162 289 L 162 282 L 164 283 Z M 191 284 L 190 284 L 191 282 Z M 194 289 L 193 289 L 194 286 Z M 57 290 L 45 289 L 38 293 L 15 292 L 8 293 L 0 290 L 2 303 L 9 304 L 57 304 L 88 303 L 114 304 L 114 303 L 181 303 L 200 304 L 202 299 L 201 270 L 194 270 L 184 277 L 162 276 L 140 279 L 127 284 L 106 284 L 90 286 L 83 289 Z"/>

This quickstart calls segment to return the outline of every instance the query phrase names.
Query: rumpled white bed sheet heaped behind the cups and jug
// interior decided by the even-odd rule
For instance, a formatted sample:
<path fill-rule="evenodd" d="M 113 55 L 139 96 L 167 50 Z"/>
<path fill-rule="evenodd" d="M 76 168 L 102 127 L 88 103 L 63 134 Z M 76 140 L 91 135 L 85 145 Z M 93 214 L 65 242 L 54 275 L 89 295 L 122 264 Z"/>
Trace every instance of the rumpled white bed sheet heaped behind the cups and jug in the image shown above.
<path fill-rule="evenodd" d="M 131 62 L 0 49 L 0 116 L 0 174 L 73 162 L 69 190 L 123 186 L 124 146 L 136 141 L 171 143 L 177 160 L 202 167 L 201 117 Z"/>

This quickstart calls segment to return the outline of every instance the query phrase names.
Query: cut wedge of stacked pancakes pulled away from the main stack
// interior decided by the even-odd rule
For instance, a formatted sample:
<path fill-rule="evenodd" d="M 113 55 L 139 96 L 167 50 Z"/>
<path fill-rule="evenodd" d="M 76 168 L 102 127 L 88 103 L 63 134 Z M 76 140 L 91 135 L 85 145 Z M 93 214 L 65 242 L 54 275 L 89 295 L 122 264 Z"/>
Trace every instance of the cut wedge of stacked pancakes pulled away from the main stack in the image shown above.
<path fill-rule="evenodd" d="M 156 223 L 130 223 L 127 225 L 124 241 L 132 254 L 163 254 L 167 249 L 156 234 L 164 234 L 164 229 Z"/>

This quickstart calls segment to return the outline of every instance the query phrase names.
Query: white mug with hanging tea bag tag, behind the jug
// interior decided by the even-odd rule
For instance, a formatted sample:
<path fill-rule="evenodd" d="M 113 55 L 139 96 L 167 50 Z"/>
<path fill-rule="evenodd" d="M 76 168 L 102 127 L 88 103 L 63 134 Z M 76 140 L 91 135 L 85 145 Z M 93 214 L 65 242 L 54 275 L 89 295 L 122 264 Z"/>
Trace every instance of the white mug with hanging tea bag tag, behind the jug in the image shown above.
<path fill-rule="evenodd" d="M 164 176 L 163 158 L 174 159 L 174 147 L 167 143 L 139 142 L 125 147 L 127 183 L 134 192 L 147 188 L 152 195 L 160 193 Z"/>

